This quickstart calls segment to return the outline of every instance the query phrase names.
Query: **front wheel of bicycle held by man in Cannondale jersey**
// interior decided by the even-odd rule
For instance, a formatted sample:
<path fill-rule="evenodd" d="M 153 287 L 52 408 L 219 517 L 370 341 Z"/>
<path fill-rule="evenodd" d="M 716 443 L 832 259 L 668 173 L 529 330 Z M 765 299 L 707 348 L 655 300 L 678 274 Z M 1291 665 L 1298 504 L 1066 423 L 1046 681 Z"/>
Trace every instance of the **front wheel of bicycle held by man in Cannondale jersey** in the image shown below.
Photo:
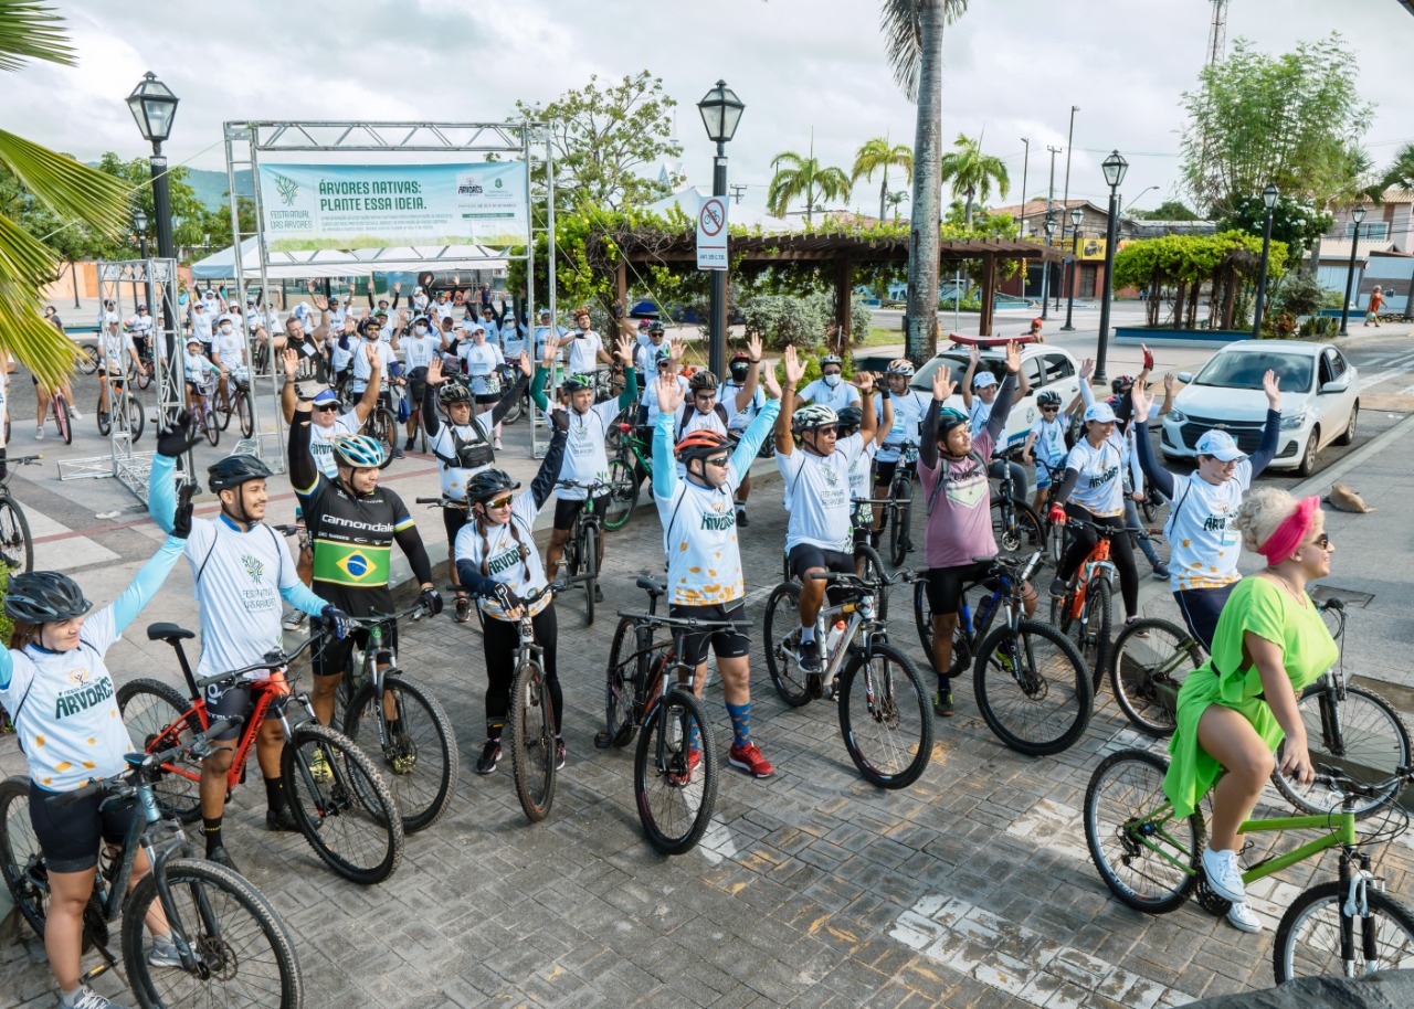
<path fill-rule="evenodd" d="M 437 698 L 402 677 L 385 675 L 383 711 L 392 705 L 387 721 L 396 725 L 385 746 L 378 704 L 373 683 L 365 683 L 344 709 L 344 735 L 383 776 L 403 817 L 403 832 L 416 834 L 441 820 L 451 804 L 461 763 L 457 733 Z"/>

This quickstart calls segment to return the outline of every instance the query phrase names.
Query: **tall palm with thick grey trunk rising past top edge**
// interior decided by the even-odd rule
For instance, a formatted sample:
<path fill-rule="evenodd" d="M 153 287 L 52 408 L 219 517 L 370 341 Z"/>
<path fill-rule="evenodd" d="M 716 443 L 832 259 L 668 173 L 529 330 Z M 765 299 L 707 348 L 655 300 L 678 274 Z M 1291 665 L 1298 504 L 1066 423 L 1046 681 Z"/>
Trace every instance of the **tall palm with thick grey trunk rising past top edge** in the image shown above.
<path fill-rule="evenodd" d="M 918 102 L 913 131 L 913 211 L 908 257 L 908 334 L 913 362 L 937 349 L 937 243 L 943 131 L 943 27 L 967 10 L 967 0 L 882 0 L 880 18 L 894 79 Z"/>

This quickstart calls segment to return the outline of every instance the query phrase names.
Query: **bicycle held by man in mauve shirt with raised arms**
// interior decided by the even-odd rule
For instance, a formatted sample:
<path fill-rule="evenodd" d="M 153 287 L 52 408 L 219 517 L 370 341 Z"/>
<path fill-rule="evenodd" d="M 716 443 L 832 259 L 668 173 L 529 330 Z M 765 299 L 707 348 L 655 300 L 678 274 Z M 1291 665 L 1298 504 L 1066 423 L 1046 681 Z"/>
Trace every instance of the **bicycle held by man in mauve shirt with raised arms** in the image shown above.
<path fill-rule="evenodd" d="M 1069 749 L 1085 735 L 1094 708 L 1094 687 L 1075 644 L 1049 623 L 1025 616 L 1021 586 L 1041 568 L 1042 554 L 991 558 L 991 574 L 976 582 L 991 592 L 976 619 L 966 595 L 973 585 L 964 586 L 947 671 L 963 675 L 973 666 L 983 721 L 1001 742 L 1027 756 Z M 933 612 L 922 574 L 913 582 L 913 625 L 932 664 Z M 1005 620 L 993 627 L 1003 613 Z"/>

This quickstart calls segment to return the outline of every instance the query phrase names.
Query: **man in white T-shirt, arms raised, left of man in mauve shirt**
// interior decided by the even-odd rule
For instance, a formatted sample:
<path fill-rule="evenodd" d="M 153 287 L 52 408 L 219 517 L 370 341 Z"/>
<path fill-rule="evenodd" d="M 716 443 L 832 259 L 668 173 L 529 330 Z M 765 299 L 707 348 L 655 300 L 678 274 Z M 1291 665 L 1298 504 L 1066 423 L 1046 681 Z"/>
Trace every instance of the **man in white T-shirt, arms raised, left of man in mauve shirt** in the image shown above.
<path fill-rule="evenodd" d="M 874 439 L 874 376 L 860 372 L 857 389 L 864 393 L 863 418 L 857 434 L 840 442 L 840 417 L 824 403 L 795 408 L 795 387 L 805 374 L 796 349 L 785 352 L 786 383 L 782 387 L 781 414 L 776 417 L 776 468 L 785 480 L 785 506 L 790 513 L 786 526 L 786 557 L 790 574 L 800 579 L 800 670 L 820 674 L 820 654 L 814 647 L 814 620 L 824 601 L 824 582 L 812 578 L 816 571 L 854 574 L 854 531 L 850 526 L 850 466 Z M 795 438 L 800 438 L 796 451 Z"/>

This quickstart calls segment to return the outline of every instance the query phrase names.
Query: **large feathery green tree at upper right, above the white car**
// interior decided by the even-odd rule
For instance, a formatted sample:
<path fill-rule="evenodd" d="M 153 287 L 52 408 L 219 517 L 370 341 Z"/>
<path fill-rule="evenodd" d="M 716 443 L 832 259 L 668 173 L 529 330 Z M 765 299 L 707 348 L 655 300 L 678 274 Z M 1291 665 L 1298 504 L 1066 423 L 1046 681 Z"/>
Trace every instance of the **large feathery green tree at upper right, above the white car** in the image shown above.
<path fill-rule="evenodd" d="M 1213 216 L 1274 182 L 1297 199 L 1328 206 L 1355 182 L 1350 148 L 1373 106 L 1356 90 L 1357 52 L 1339 33 L 1271 57 L 1237 40 L 1184 93 L 1184 178 Z"/>

